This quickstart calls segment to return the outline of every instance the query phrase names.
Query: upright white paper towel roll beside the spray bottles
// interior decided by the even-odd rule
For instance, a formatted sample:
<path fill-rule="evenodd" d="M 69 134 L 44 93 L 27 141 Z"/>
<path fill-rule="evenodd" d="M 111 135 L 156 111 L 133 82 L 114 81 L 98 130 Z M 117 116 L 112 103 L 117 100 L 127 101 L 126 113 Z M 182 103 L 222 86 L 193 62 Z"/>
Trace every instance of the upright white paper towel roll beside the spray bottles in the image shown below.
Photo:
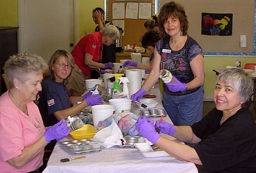
<path fill-rule="evenodd" d="M 128 78 L 129 95 L 133 95 L 141 88 L 141 70 L 130 69 L 126 70 L 126 77 Z"/>

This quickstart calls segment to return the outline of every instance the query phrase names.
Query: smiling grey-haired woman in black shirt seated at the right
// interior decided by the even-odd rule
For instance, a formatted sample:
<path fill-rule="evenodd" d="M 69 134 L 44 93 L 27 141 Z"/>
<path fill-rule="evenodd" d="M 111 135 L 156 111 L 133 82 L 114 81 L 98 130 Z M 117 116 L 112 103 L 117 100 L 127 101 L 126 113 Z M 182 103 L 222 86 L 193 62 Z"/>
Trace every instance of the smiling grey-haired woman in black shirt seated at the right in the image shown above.
<path fill-rule="evenodd" d="M 140 116 L 136 130 L 177 159 L 203 165 L 202 172 L 256 172 L 256 125 L 249 110 L 253 80 L 240 68 L 220 73 L 214 88 L 215 108 L 192 126 L 174 126 Z M 180 144 L 160 133 L 180 141 Z M 199 171 L 201 172 L 201 171 Z"/>

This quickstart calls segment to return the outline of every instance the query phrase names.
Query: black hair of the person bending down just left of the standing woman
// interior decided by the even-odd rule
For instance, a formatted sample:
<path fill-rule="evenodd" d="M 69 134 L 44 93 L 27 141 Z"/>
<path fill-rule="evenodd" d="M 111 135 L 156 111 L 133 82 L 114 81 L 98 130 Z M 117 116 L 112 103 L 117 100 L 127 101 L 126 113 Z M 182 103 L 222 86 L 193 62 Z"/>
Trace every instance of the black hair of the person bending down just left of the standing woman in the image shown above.
<path fill-rule="evenodd" d="M 142 47 L 147 48 L 148 46 L 155 47 L 156 43 L 160 40 L 160 35 L 155 29 L 150 29 L 141 37 Z"/>

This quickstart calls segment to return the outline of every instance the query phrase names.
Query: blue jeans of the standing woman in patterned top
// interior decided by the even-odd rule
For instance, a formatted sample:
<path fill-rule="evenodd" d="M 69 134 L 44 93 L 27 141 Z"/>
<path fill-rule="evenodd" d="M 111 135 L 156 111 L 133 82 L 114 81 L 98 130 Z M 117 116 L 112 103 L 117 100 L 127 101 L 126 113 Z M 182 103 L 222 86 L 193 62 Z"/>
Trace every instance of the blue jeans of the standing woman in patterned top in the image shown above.
<path fill-rule="evenodd" d="M 188 95 L 163 93 L 163 107 L 176 126 L 190 126 L 203 116 L 203 86 Z"/>

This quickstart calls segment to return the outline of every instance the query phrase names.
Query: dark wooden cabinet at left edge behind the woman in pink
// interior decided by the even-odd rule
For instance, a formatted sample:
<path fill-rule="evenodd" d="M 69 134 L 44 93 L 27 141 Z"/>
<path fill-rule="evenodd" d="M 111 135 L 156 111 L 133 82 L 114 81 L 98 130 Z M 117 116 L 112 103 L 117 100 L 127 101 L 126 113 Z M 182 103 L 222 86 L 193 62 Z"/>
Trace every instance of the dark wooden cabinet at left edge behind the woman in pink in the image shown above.
<path fill-rule="evenodd" d="M 18 28 L 19 27 L 0 27 L 0 77 L 3 73 L 3 65 L 10 55 L 18 52 Z M 6 92 L 5 81 L 0 80 L 0 95 Z"/>

